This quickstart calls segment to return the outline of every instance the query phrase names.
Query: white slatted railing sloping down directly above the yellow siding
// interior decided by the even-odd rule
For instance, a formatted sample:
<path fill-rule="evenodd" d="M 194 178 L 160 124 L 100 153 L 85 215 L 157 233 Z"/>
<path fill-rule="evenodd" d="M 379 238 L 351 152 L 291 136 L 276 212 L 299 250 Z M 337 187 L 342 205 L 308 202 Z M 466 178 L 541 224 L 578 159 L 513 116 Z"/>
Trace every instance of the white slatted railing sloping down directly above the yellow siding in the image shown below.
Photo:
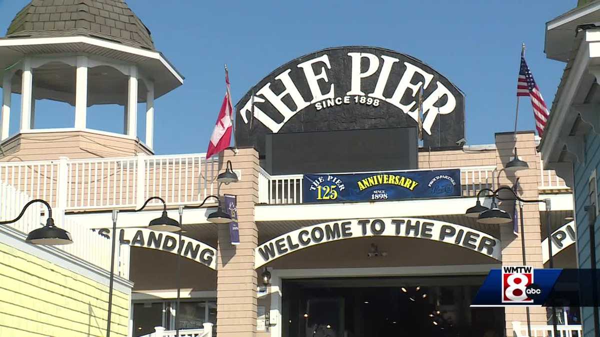
<path fill-rule="evenodd" d="M 0 203 L 1 217 L 8 220 L 16 218 L 23 206 L 32 198 L 26 192 L 17 191 L 8 183 L 0 182 L 0 200 L 2 200 Z M 8 224 L 8 226 L 27 234 L 46 224 L 46 212 L 46 207 L 43 204 L 31 204 L 19 221 Z M 110 269 L 111 240 L 86 229 L 72 219 L 65 219 L 61 212 L 56 210 L 53 212 L 53 218 L 56 226 L 67 230 L 73 238 L 73 243 L 70 245 L 60 245 L 56 246 L 57 248 L 105 270 Z M 128 278 L 129 246 L 120 246 L 117 252 L 119 253 L 115 254 L 116 266 L 118 266 L 117 275 Z"/>

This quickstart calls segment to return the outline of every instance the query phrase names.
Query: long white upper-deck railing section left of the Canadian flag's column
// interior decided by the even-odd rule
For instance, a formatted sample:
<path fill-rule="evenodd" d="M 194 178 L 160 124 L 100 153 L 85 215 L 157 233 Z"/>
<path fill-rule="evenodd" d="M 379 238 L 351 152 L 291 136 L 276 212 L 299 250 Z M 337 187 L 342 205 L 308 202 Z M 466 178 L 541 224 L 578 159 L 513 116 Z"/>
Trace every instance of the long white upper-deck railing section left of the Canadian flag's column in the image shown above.
<path fill-rule="evenodd" d="M 214 193 L 217 161 L 190 154 L 8 162 L 0 181 L 62 210 L 139 207 L 154 195 L 190 204 Z"/>

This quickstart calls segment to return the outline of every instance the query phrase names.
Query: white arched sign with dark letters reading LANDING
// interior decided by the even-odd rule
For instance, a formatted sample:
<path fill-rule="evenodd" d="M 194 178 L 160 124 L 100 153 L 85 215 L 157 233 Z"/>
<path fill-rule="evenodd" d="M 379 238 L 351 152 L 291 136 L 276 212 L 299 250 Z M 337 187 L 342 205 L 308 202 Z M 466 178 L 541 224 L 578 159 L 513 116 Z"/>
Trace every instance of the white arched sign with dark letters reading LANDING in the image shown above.
<path fill-rule="evenodd" d="M 110 238 L 111 231 L 109 228 L 101 228 L 98 234 Z M 179 249 L 182 249 L 182 257 L 202 263 L 211 269 L 217 268 L 217 249 L 187 236 L 181 236 L 181 243 L 178 243 L 178 238 L 179 234 L 147 228 L 119 229 L 119 242 L 122 245 L 158 249 L 173 254 L 178 254 Z"/>

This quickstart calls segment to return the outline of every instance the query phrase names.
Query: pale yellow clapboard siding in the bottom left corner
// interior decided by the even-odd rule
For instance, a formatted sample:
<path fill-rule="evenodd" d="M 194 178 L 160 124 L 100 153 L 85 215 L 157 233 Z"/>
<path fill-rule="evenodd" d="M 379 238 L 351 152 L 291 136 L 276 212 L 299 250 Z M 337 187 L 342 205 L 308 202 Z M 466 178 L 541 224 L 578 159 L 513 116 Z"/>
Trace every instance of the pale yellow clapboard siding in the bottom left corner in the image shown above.
<path fill-rule="evenodd" d="M 108 287 L 0 243 L 0 336 L 104 336 Z M 112 335 L 127 336 L 129 295 L 113 291 Z"/>

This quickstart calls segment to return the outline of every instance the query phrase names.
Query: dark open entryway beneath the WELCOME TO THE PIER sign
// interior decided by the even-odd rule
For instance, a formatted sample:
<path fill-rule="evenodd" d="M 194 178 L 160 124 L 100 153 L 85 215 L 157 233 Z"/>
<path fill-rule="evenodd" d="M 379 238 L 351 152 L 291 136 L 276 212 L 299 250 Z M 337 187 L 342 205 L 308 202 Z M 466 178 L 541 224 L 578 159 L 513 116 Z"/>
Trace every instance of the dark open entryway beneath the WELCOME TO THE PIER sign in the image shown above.
<path fill-rule="evenodd" d="M 482 276 L 283 282 L 284 337 L 502 337 L 503 308 L 470 308 Z"/>

